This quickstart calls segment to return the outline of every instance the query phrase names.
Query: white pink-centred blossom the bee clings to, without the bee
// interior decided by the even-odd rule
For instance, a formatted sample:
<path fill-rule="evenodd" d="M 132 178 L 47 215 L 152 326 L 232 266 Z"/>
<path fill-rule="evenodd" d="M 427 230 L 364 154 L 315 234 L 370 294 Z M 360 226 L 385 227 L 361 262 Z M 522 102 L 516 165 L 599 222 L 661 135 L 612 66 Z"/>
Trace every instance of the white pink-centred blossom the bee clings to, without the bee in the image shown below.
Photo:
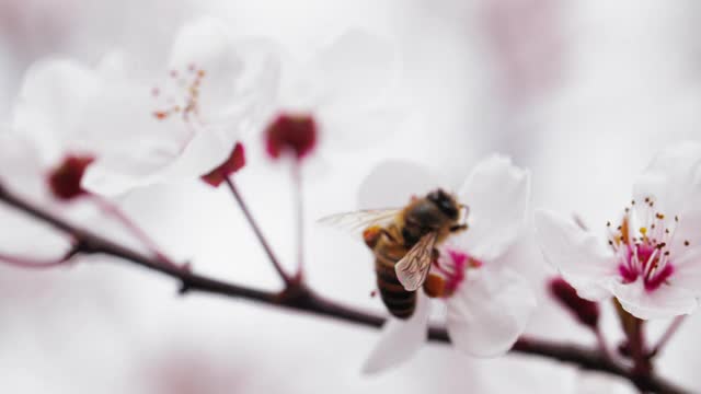
<path fill-rule="evenodd" d="M 437 183 L 417 164 L 386 162 L 365 181 L 361 205 L 399 204 L 398 194 L 421 194 Z M 515 262 L 506 254 L 527 222 L 530 174 L 509 159 L 493 155 L 472 170 L 457 197 L 469 206 L 469 229 L 440 246 L 429 277 L 444 279 L 437 299 L 445 301 L 448 335 L 456 348 L 470 356 L 493 357 L 514 345 L 536 308 L 532 290 L 509 267 Z M 411 317 L 390 317 L 365 372 L 379 372 L 409 359 L 426 340 L 430 300 L 421 289 L 417 296 Z"/>

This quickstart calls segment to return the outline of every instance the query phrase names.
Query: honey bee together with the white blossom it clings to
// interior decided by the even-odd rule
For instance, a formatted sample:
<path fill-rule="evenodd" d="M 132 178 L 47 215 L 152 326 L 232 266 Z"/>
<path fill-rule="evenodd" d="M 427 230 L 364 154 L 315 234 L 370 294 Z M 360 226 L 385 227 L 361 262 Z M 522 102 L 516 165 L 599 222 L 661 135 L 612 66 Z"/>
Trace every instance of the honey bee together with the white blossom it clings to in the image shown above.
<path fill-rule="evenodd" d="M 364 206 L 388 206 L 386 200 L 397 201 L 403 193 L 428 193 L 399 210 L 322 219 L 365 229 L 380 296 L 397 317 L 386 324 L 365 372 L 382 371 L 418 349 L 426 339 L 428 298 L 446 303 L 452 344 L 481 357 L 507 351 L 536 306 L 526 280 L 504 263 L 508 258 L 502 258 L 527 222 L 529 173 L 494 155 L 473 169 L 456 195 L 435 183 L 436 177 L 418 164 L 386 162 L 361 186 Z M 499 258 L 504 262 L 495 264 Z"/>

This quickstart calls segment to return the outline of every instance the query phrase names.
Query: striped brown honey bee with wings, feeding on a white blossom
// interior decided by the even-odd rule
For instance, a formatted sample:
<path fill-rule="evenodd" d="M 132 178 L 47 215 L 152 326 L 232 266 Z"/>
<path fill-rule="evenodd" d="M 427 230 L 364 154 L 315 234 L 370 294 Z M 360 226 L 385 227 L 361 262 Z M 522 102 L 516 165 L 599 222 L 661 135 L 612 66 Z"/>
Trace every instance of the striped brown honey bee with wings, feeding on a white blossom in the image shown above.
<path fill-rule="evenodd" d="M 409 318 L 422 286 L 430 297 L 440 294 L 440 281 L 426 280 L 436 248 L 450 234 L 468 229 L 468 207 L 455 196 L 436 189 L 413 197 L 400 209 L 370 209 L 337 213 L 320 220 L 346 230 L 363 230 L 363 240 L 375 255 L 377 288 L 388 311 Z"/>

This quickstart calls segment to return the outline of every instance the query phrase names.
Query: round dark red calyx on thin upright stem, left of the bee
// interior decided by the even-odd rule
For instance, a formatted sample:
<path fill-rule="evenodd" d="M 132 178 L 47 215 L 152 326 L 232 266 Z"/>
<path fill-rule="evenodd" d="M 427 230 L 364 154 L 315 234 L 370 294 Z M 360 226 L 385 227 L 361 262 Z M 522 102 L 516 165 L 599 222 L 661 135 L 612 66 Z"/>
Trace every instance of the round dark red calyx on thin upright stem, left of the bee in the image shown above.
<path fill-rule="evenodd" d="M 265 131 L 265 142 L 273 159 L 285 151 L 302 159 L 317 144 L 317 124 L 310 115 L 280 114 Z"/>

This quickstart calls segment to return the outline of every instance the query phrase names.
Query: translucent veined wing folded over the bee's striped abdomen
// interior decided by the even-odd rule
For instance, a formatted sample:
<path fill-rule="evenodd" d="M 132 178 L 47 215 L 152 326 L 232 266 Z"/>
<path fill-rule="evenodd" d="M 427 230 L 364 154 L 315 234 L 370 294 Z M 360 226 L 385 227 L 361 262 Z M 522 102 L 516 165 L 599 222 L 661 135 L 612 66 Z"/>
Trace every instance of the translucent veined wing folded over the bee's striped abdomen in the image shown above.
<path fill-rule="evenodd" d="M 394 266 L 397 278 L 406 291 L 416 291 L 426 280 L 436 236 L 435 232 L 422 236 L 416 245 Z"/>

